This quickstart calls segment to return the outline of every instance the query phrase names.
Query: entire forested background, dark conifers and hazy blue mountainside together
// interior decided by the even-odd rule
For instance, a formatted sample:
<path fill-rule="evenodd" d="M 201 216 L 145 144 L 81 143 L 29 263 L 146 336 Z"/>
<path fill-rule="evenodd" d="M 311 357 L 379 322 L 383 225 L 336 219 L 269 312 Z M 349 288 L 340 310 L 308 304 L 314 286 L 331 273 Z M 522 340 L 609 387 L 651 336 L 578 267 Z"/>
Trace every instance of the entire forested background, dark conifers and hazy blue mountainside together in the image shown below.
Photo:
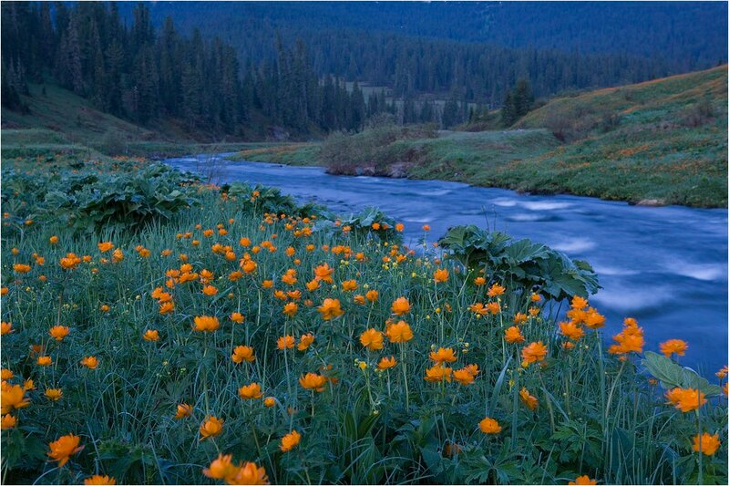
<path fill-rule="evenodd" d="M 4 2 L 3 106 L 27 112 L 29 84 L 57 83 L 95 109 L 148 128 L 171 123 L 197 140 L 319 137 L 382 112 L 450 128 L 501 106 L 508 126 L 524 112 L 510 113 L 518 87 L 544 98 L 725 59 L 716 47 L 725 5 L 631 8 Z M 603 16 L 601 28 L 578 22 Z M 541 34 L 518 45 L 525 26 Z M 601 41 L 612 27 L 618 45 Z M 574 48 L 580 39 L 586 52 Z"/>

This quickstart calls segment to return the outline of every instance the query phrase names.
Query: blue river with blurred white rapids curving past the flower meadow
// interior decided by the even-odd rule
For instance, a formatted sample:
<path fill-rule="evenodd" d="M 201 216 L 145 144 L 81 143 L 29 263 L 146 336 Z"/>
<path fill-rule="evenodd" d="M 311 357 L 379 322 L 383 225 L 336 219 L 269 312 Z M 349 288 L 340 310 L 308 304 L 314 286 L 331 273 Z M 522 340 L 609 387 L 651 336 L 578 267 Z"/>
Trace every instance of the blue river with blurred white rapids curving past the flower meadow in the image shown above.
<path fill-rule="evenodd" d="M 558 195 L 530 196 L 446 181 L 412 181 L 326 174 L 319 167 L 226 162 L 225 154 L 165 160 L 183 171 L 215 166 L 219 182 L 278 187 L 299 202 L 338 213 L 377 206 L 404 222 L 415 246 L 423 224 L 434 240 L 450 226 L 477 224 L 546 243 L 587 260 L 603 286 L 590 298 L 607 315 L 606 334 L 623 317 L 645 328 L 646 349 L 681 338 L 682 362 L 704 376 L 727 362 L 727 212 Z M 409 240 L 409 242 L 408 242 Z"/>

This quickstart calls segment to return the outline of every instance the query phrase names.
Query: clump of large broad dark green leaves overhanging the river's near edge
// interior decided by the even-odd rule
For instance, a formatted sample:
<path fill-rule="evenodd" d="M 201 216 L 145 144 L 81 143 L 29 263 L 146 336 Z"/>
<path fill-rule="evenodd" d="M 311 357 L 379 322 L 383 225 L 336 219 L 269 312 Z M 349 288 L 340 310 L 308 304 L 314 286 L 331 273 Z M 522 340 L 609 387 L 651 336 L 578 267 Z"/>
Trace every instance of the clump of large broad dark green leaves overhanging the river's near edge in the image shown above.
<path fill-rule="evenodd" d="M 587 262 L 527 239 L 514 241 L 508 234 L 470 224 L 450 228 L 439 243 L 467 269 L 483 267 L 496 282 L 534 289 L 558 301 L 587 297 L 601 288 Z"/>

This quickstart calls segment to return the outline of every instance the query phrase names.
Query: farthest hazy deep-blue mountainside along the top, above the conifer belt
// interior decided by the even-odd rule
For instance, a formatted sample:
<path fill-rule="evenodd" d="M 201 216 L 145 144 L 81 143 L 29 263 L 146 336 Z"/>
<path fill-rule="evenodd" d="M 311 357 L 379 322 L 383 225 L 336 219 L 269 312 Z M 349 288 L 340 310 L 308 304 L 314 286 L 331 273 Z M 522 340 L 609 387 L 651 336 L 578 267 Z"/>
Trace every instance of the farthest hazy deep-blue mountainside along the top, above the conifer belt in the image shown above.
<path fill-rule="evenodd" d="M 334 28 L 624 52 L 664 57 L 685 70 L 726 58 L 724 2 L 155 2 L 150 8 L 153 22 L 173 16 L 183 30 L 198 26 L 231 40 L 253 40 L 271 29 L 307 36 Z M 265 44 L 259 49 L 271 53 Z M 246 50 L 257 54 L 252 46 Z"/>

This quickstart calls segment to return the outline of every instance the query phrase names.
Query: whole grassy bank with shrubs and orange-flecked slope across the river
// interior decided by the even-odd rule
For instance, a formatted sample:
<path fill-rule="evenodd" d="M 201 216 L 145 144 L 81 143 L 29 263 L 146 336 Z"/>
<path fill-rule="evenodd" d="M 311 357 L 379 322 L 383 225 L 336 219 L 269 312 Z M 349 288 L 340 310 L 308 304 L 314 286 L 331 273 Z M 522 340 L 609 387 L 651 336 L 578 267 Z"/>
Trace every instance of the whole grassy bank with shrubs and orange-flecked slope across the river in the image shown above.
<path fill-rule="evenodd" d="M 508 130 L 376 130 L 249 160 L 608 200 L 726 207 L 726 67 L 550 100 Z M 245 155 L 241 155 L 245 159 Z"/>

